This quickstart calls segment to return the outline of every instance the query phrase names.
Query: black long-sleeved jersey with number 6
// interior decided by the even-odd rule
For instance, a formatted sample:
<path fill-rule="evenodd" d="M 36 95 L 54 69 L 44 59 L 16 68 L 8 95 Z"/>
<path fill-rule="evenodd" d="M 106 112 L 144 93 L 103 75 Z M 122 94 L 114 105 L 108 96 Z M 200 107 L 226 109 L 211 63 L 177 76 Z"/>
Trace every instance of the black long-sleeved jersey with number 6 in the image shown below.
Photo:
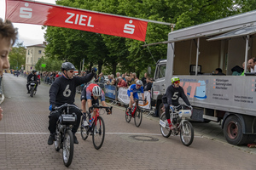
<path fill-rule="evenodd" d="M 58 77 L 49 88 L 49 105 L 73 104 L 76 87 L 90 82 L 93 76 L 93 73 L 89 73 L 84 77 L 73 77 L 73 79 L 67 79 L 64 76 Z"/>

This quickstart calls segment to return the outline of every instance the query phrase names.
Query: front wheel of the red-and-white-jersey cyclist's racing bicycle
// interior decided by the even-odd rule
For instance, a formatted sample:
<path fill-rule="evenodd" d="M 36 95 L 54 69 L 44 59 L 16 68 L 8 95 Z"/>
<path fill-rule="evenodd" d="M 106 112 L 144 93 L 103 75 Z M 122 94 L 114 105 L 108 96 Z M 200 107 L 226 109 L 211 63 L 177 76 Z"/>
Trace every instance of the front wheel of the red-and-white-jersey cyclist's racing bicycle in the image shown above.
<path fill-rule="evenodd" d="M 97 117 L 92 127 L 92 142 L 96 150 L 102 147 L 105 138 L 105 123 L 101 116 Z"/>

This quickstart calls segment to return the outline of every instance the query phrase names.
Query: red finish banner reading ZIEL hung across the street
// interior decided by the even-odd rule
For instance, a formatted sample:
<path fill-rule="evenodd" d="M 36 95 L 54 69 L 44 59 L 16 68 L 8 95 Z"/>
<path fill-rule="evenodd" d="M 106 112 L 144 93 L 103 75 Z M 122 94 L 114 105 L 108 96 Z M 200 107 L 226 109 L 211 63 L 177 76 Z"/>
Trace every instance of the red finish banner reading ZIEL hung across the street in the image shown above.
<path fill-rule="evenodd" d="M 59 26 L 143 42 L 148 26 L 142 20 L 26 0 L 6 0 L 5 16 L 16 23 Z"/>

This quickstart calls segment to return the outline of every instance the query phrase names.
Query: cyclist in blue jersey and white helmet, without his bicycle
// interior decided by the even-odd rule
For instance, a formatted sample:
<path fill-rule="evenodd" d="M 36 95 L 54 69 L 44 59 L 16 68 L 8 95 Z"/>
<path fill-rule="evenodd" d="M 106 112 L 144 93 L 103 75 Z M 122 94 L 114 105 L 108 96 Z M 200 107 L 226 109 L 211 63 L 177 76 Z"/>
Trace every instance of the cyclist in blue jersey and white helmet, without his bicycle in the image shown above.
<path fill-rule="evenodd" d="M 134 99 L 138 99 L 138 93 L 141 93 L 143 96 L 143 100 L 145 99 L 144 97 L 144 90 L 143 90 L 143 82 L 141 80 L 137 80 L 136 84 L 131 84 L 131 86 L 127 90 L 127 94 L 130 98 L 130 103 L 129 103 L 129 108 L 128 108 L 128 113 L 131 115 L 131 105 L 134 104 Z M 144 101 L 145 105 L 145 101 Z"/>

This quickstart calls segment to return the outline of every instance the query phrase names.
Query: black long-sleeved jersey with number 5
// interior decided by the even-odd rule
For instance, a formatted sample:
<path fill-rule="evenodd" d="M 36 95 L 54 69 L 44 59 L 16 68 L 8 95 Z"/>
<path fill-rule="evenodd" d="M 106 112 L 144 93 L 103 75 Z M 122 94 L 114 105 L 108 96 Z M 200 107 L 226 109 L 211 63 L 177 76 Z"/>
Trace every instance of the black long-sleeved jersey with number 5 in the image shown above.
<path fill-rule="evenodd" d="M 164 98 L 166 98 L 167 99 L 166 103 L 168 105 L 177 106 L 179 105 L 178 103 L 179 97 L 181 97 L 187 105 L 190 105 L 189 99 L 185 95 L 183 88 L 180 86 L 178 88 L 174 88 L 173 85 L 169 86 L 166 90 L 166 94 L 163 96 L 163 100 Z"/>

